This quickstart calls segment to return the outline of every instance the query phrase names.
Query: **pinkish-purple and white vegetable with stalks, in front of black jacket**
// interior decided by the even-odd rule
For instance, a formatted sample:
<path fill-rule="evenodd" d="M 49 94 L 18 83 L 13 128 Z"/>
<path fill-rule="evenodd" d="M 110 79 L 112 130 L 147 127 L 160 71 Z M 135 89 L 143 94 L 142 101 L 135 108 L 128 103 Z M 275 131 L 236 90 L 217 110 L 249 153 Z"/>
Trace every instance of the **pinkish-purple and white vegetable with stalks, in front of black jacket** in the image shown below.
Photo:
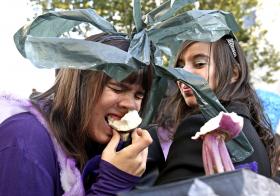
<path fill-rule="evenodd" d="M 206 175 L 234 170 L 225 141 L 238 136 L 242 128 L 242 117 L 234 112 L 220 112 L 192 137 L 192 139 L 203 140 L 202 159 Z"/>

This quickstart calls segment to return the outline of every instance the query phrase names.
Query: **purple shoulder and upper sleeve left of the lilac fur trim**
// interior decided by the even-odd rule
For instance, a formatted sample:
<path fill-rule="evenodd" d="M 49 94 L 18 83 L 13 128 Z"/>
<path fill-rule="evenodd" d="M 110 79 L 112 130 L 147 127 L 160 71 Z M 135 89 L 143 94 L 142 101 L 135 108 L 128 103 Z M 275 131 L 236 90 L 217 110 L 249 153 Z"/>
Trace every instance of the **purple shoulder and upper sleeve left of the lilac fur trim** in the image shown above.
<path fill-rule="evenodd" d="M 0 157 L 0 196 L 61 195 L 51 141 L 30 114 L 0 124 Z"/>

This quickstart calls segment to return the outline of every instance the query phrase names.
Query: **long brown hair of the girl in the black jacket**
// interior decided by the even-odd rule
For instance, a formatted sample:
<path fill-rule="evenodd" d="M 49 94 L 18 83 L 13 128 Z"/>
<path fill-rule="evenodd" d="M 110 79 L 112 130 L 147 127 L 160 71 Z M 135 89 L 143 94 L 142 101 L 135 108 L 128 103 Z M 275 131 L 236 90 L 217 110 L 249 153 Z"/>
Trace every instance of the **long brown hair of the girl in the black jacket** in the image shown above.
<path fill-rule="evenodd" d="M 216 65 L 214 73 L 214 77 L 216 78 L 216 88 L 214 89 L 214 92 L 219 101 L 224 105 L 227 105 L 229 102 L 242 102 L 247 105 L 251 113 L 251 122 L 268 152 L 272 175 L 274 175 L 277 160 L 275 159 L 275 139 L 271 131 L 270 121 L 267 116 L 265 116 L 256 91 L 250 83 L 249 66 L 238 41 L 233 39 L 237 54 L 237 56 L 234 57 L 226 40 L 228 38 L 229 36 L 225 36 L 218 41 L 211 43 L 210 51 L 213 53 L 213 61 Z M 195 42 L 186 41 L 178 53 L 177 59 L 179 59 L 181 53 L 193 43 Z M 177 66 L 177 63 L 175 66 Z M 231 78 L 234 77 L 235 71 L 238 72 L 238 78 L 232 82 Z M 186 115 L 198 111 L 198 108 L 189 108 L 187 104 L 185 104 L 179 90 L 177 90 L 175 95 L 170 98 L 167 107 L 171 106 L 176 108 L 173 110 L 176 111 L 173 114 L 173 116 L 175 116 L 176 124 L 181 122 Z"/>

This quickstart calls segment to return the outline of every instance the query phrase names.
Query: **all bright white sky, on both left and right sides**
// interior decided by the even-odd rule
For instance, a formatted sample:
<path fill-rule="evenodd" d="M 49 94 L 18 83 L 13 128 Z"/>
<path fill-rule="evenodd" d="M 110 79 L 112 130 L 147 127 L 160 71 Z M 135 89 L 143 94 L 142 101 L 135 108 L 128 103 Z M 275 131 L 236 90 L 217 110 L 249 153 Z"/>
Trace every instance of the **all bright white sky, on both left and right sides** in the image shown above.
<path fill-rule="evenodd" d="M 54 81 L 54 71 L 35 68 L 28 60 L 17 51 L 13 34 L 26 23 L 27 18 L 32 18 L 32 9 L 27 5 L 28 0 L 3 1 L 4 9 L 0 12 L 0 91 L 16 93 L 27 97 L 36 88 L 38 91 L 47 90 Z M 9 7 L 12 7 L 12 13 Z M 280 51 L 280 1 L 263 0 L 258 9 L 257 17 L 263 23 L 263 28 L 268 29 L 268 39 L 275 43 Z M 11 15 L 13 14 L 13 15 Z M 276 28 L 277 27 L 277 28 Z M 280 94 L 280 80 L 278 83 L 266 87 L 259 83 L 259 88 L 265 88 Z"/>

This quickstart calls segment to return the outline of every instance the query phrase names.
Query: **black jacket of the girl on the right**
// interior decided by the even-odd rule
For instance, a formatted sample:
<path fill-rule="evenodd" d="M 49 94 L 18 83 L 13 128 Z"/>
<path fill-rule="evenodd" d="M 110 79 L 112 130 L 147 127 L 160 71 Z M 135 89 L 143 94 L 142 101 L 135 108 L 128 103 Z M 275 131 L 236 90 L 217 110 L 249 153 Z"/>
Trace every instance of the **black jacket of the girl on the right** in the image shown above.
<path fill-rule="evenodd" d="M 270 177 L 269 158 L 262 141 L 251 124 L 248 108 L 242 103 L 232 103 L 226 108 L 229 112 L 235 112 L 244 117 L 242 131 L 254 148 L 254 153 L 238 164 L 256 161 L 258 173 Z M 184 119 L 178 126 L 166 160 L 166 167 L 161 171 L 156 184 L 205 175 L 202 161 L 202 141 L 191 139 L 205 122 L 202 114 L 195 114 Z"/>

